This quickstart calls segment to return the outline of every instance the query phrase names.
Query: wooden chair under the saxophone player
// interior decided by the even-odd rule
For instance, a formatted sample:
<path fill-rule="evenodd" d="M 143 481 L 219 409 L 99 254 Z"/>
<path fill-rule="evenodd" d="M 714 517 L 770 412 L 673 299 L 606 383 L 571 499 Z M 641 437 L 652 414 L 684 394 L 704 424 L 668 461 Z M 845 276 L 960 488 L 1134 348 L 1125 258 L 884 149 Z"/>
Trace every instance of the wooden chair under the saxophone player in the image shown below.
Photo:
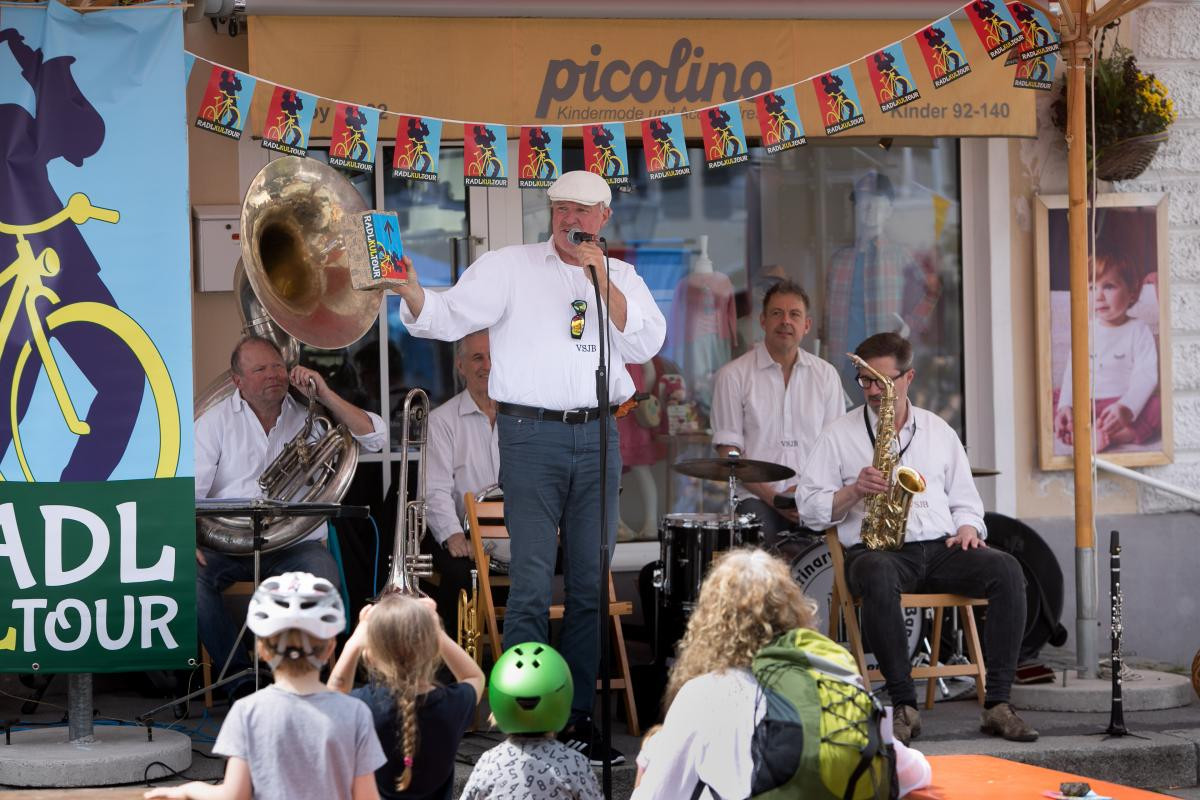
<path fill-rule="evenodd" d="M 883 680 L 883 673 L 878 669 L 866 668 L 866 655 L 863 650 L 863 634 L 858 627 L 858 614 L 856 609 L 862 601 L 850 594 L 846 583 L 845 554 L 841 542 L 838 541 L 838 529 L 832 528 L 826 531 L 826 543 L 829 546 L 829 557 L 833 563 L 833 599 L 829 603 L 829 638 L 838 639 L 838 624 L 845 621 L 846 638 L 850 640 L 850 650 L 858 661 L 858 672 L 863 675 L 866 688 L 871 688 L 872 680 Z M 971 675 L 976 679 L 976 696 L 979 705 L 983 705 L 985 669 L 983 663 L 983 648 L 979 645 L 979 628 L 976 627 L 972 606 L 986 606 L 988 601 L 977 597 L 950 594 L 901 594 L 900 606 L 902 608 L 932 608 L 934 630 L 931 634 L 931 652 L 929 654 L 928 667 L 913 667 L 913 680 L 928 679 L 925 687 L 925 708 L 934 708 L 934 694 L 937 690 L 938 678 L 950 678 L 953 675 Z M 942 613 L 947 608 L 958 608 L 959 618 L 966 633 L 968 663 L 965 664 L 938 664 L 937 656 L 942 644 Z"/>

